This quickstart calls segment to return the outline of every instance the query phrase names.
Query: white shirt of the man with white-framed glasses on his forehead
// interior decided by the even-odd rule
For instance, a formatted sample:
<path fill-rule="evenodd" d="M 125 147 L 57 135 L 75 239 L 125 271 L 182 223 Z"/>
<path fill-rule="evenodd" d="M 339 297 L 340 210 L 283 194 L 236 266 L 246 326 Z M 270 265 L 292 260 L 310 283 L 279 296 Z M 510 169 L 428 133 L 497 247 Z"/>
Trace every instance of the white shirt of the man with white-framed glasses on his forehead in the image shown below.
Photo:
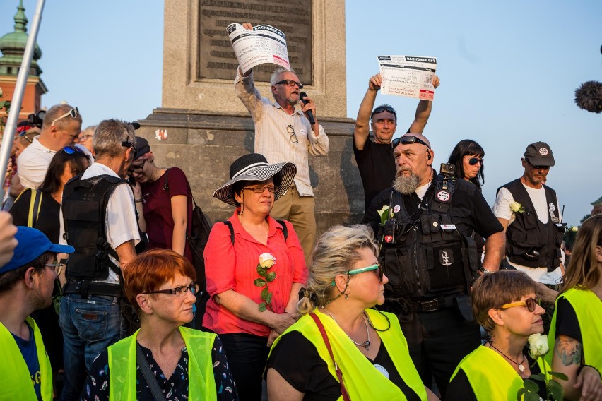
<path fill-rule="evenodd" d="M 42 185 L 52 157 L 57 153 L 46 148 L 37 138 L 40 136 L 33 138 L 31 145 L 21 152 L 17 160 L 19 179 L 25 188 Z"/>

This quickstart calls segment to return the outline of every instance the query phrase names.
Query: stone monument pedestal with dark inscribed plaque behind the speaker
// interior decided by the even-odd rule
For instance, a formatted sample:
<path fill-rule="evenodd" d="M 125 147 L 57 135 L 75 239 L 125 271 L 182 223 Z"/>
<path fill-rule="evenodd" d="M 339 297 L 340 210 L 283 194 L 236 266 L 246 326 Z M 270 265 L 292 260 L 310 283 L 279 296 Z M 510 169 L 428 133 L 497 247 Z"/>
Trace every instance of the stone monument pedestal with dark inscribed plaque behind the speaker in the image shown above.
<path fill-rule="evenodd" d="M 138 121 L 161 167 L 186 173 L 196 202 L 216 222 L 232 207 L 213 198 L 230 164 L 254 151 L 254 125 L 234 90 L 237 59 L 226 27 L 267 24 L 285 32 L 290 64 L 317 104 L 327 157 L 309 156 L 318 233 L 359 222 L 363 190 L 353 157 L 355 121 L 346 118 L 343 0 L 165 0 L 163 104 Z M 276 66 L 255 68 L 264 97 Z"/>

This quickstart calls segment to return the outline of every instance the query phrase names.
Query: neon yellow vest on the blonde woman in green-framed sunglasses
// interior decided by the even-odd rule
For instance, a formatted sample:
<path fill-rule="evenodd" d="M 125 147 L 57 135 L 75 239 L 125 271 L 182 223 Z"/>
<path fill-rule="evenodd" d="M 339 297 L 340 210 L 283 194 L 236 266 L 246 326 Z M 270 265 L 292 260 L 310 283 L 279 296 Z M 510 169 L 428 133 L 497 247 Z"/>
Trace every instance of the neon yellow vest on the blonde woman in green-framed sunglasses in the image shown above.
<path fill-rule="evenodd" d="M 314 309 L 314 313 L 317 311 L 318 309 Z M 370 316 L 374 327 L 386 328 L 389 325 L 386 318 L 379 312 L 373 309 L 366 309 L 366 312 Z M 389 353 L 389 357 L 391 357 L 391 360 L 395 364 L 399 376 L 418 394 L 420 400 L 425 401 L 427 399 L 425 385 L 420 380 L 418 371 L 416 371 L 414 363 L 410 358 L 408 342 L 406 342 L 406 337 L 403 337 L 403 333 L 401 333 L 399 321 L 394 314 L 383 313 L 389 317 L 391 328 L 379 332 L 379 337 L 386 351 Z M 324 318 L 325 315 L 322 313 L 316 313 L 316 315 L 326 329 L 334 359 L 343 372 L 343 381 L 351 400 L 406 400 L 406 396 L 401 393 L 399 387 L 374 368 L 374 365 L 353 345 L 350 338 L 331 318 Z M 326 362 L 331 375 L 338 382 L 334 364 L 324 344 L 324 339 L 318 330 L 318 326 L 312 317 L 309 315 L 303 316 L 297 323 L 290 326 L 285 333 L 290 331 L 300 332 L 315 345 L 321 359 Z M 281 338 L 282 336 L 276 339 L 272 349 Z M 338 399 L 342 400 L 343 397 L 341 396 Z"/>

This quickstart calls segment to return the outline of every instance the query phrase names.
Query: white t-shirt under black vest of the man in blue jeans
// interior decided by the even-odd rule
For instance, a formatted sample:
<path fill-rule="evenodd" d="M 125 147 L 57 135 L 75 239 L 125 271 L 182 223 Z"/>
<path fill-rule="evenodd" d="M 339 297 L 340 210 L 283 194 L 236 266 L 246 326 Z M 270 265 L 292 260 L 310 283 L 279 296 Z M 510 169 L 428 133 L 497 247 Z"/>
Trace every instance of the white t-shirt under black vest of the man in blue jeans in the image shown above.
<path fill-rule="evenodd" d="M 100 175 L 110 175 L 119 177 L 112 169 L 105 166 L 105 164 L 93 163 L 88 169 L 83 172 L 81 178 L 88 179 Z M 136 220 L 136 208 L 134 206 L 134 193 L 131 191 L 129 185 L 118 185 L 109 197 L 107 203 L 107 219 L 105 221 L 107 227 L 107 242 L 110 244 L 112 249 L 117 246 L 124 244 L 126 241 L 134 239 L 134 245 L 140 242 L 140 233 L 138 232 L 138 220 Z M 65 232 L 63 222 L 63 208 L 59 215 L 61 223 L 61 232 L 59 241 L 61 244 L 66 244 L 67 241 L 63 239 Z M 109 256 L 111 260 L 116 264 L 119 263 Z M 119 277 L 109 270 L 109 277 L 107 280 L 99 280 L 99 282 L 108 282 L 111 284 L 119 283 Z"/>

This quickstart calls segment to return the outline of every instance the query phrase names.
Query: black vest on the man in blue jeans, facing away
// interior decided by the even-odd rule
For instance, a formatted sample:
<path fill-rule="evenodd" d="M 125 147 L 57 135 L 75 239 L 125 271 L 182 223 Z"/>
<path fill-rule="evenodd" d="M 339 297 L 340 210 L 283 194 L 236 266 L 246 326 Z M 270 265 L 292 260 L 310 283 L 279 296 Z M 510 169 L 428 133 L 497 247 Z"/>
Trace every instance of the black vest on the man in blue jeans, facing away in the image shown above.
<path fill-rule="evenodd" d="M 65 184 L 63 190 L 64 239 L 75 248 L 69 255 L 66 277 L 69 280 L 105 280 L 109 269 L 119 260 L 107 242 L 106 215 L 109 197 L 119 184 L 127 181 L 110 175 L 81 179 L 81 174 Z"/>

